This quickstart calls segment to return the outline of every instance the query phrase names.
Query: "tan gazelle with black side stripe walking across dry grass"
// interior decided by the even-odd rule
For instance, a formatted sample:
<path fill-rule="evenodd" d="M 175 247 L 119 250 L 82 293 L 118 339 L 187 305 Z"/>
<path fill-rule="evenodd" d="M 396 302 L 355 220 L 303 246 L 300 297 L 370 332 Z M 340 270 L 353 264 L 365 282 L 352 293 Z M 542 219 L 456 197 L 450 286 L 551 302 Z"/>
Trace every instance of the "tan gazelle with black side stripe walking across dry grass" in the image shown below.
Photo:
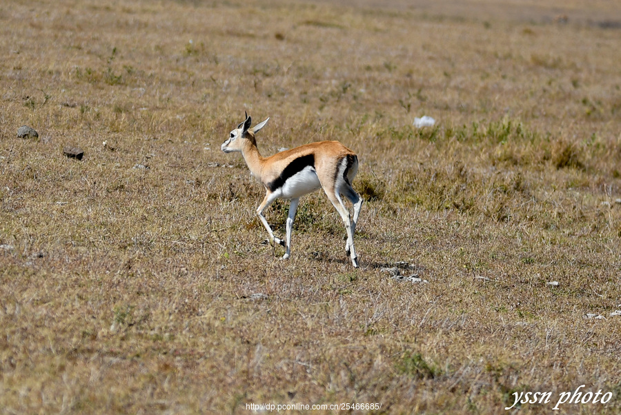
<path fill-rule="evenodd" d="M 267 122 L 268 119 L 250 128 L 252 119 L 246 114 L 246 121 L 230 132 L 228 140 L 224 141 L 221 148 L 226 153 L 241 152 L 250 172 L 265 186 L 266 195 L 257 208 L 257 214 L 270 234 L 270 240 L 284 245 L 286 252 L 282 259 L 288 259 L 291 252 L 291 229 L 299 198 L 323 188 L 345 223 L 347 230 L 345 252 L 351 257 L 353 266 L 357 267 L 353 236 L 362 207 L 362 198 L 351 187 L 351 181 L 358 171 L 356 154 L 338 141 L 321 141 L 262 157 L 257 149 L 255 134 Z M 350 219 L 349 210 L 345 207 L 341 194 L 353 203 L 353 220 Z M 263 216 L 263 211 L 275 199 L 291 201 L 286 225 L 286 243 L 274 236 L 272 228 Z"/>

